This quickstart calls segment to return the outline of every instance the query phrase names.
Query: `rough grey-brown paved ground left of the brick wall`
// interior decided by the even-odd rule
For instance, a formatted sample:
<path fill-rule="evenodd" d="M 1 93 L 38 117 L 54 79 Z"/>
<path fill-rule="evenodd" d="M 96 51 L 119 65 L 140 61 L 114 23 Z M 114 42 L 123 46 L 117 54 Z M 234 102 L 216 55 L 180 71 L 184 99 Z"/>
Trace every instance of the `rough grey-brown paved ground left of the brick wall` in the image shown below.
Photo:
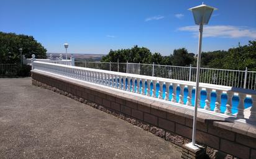
<path fill-rule="evenodd" d="M 0 79 L 0 158 L 180 158 L 181 148 L 110 114 Z"/>

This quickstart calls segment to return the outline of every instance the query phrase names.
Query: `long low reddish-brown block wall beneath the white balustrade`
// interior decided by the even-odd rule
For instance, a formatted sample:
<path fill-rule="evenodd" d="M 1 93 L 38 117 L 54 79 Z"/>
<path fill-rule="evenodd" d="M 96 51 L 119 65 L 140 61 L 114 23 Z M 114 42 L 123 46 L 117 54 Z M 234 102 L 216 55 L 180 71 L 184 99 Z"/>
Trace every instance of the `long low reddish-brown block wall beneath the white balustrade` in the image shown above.
<path fill-rule="evenodd" d="M 32 84 L 113 114 L 174 144 L 191 142 L 192 110 L 35 71 Z M 207 147 L 209 156 L 216 157 L 218 150 L 218 154 L 226 158 L 256 158 L 255 127 L 221 120 L 216 116 L 198 113 L 196 141 Z"/>

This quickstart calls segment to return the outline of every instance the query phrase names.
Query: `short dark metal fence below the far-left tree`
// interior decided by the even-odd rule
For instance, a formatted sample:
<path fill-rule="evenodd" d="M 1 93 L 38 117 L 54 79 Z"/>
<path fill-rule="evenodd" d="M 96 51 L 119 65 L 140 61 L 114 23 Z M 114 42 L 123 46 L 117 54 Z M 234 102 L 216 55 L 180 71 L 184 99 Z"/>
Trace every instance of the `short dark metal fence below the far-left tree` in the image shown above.
<path fill-rule="evenodd" d="M 17 75 L 21 64 L 0 64 L 0 75 Z"/>

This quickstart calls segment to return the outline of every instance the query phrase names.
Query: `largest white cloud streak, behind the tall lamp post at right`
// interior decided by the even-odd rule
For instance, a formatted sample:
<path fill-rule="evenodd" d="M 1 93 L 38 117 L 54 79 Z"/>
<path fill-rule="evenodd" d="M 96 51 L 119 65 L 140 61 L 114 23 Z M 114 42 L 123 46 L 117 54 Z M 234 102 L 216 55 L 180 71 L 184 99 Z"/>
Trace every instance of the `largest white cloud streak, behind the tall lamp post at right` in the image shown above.
<path fill-rule="evenodd" d="M 199 26 L 186 26 L 178 28 L 180 31 L 192 32 L 195 37 L 198 37 Z M 235 27 L 232 25 L 212 25 L 204 26 L 203 37 L 222 37 L 222 38 L 240 38 L 249 37 L 256 38 L 256 29 L 249 27 Z"/>

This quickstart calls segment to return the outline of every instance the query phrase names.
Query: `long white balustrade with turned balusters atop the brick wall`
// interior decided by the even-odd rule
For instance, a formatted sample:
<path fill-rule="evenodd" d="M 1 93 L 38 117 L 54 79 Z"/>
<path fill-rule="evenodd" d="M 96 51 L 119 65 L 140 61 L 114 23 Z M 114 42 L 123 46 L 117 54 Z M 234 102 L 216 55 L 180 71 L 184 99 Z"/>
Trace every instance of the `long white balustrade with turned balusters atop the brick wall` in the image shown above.
<path fill-rule="evenodd" d="M 64 75 L 65 77 L 71 77 L 73 79 L 84 80 L 86 82 L 104 85 L 109 88 L 122 90 L 124 92 L 134 93 L 134 95 L 140 95 L 145 98 L 155 98 L 155 100 L 170 103 L 170 105 L 184 106 L 186 108 L 192 108 L 193 105 L 192 100 L 195 82 L 165 79 L 146 75 L 127 74 L 99 69 L 89 69 L 85 67 L 66 66 L 63 64 L 54 64 L 52 62 L 34 61 L 33 65 L 34 71 L 50 72 L 52 74 Z M 185 89 L 187 90 L 187 95 L 185 95 Z M 239 119 L 245 117 L 244 100 L 245 97 L 250 97 L 252 98 L 252 106 L 249 108 L 249 119 L 251 121 L 256 121 L 255 90 L 204 83 L 199 84 L 199 89 L 206 91 L 206 100 L 202 102 L 200 96 L 198 99 L 201 101 L 198 102 L 198 108 L 200 111 L 226 117 L 234 117 L 235 114 L 232 112 L 232 97 L 235 94 L 239 98 L 237 114 L 235 117 Z M 213 93 L 216 93 L 216 99 L 214 98 L 213 101 L 214 109 L 211 108 L 211 95 Z M 222 111 L 221 113 L 221 101 L 224 93 L 227 94 L 227 101 L 225 103 L 225 111 Z M 171 98 L 169 98 L 170 95 Z"/>

